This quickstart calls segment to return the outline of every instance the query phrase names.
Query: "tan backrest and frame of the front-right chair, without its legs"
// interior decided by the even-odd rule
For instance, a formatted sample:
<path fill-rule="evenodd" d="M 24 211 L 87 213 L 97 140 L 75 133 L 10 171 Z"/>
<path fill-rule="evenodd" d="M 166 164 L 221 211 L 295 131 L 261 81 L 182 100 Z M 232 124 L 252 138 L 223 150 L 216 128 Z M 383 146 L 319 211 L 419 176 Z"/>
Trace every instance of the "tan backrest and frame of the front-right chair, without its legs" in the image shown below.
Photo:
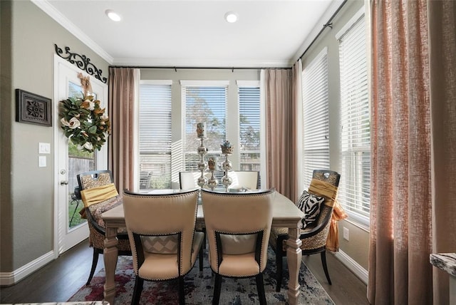
<path fill-rule="evenodd" d="M 259 267 L 257 274 L 264 271 L 274 195 L 275 190 L 242 193 L 202 190 L 202 207 L 212 270 L 219 273 L 224 255 L 234 254 L 233 256 L 239 257 L 254 252 Z M 258 237 L 250 238 L 256 233 L 260 233 Z M 229 235 L 234 237 L 231 238 Z M 224 274 L 229 275 L 228 272 L 229 270 L 225 270 Z"/>

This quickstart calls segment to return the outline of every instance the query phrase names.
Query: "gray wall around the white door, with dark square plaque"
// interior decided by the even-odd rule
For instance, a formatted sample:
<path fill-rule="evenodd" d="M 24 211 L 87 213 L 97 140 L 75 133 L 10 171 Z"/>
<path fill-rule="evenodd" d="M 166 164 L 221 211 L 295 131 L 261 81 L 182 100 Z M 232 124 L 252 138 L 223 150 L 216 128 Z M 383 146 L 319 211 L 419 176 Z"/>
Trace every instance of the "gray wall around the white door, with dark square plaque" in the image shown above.
<path fill-rule="evenodd" d="M 105 77 L 108 63 L 31 1 L 2 0 L 0 5 L 0 272 L 12 272 L 53 250 L 53 136 L 58 128 L 17 123 L 15 89 L 53 98 L 54 43 L 88 56 Z M 40 142 L 51 143 L 47 167 L 38 167 Z"/>

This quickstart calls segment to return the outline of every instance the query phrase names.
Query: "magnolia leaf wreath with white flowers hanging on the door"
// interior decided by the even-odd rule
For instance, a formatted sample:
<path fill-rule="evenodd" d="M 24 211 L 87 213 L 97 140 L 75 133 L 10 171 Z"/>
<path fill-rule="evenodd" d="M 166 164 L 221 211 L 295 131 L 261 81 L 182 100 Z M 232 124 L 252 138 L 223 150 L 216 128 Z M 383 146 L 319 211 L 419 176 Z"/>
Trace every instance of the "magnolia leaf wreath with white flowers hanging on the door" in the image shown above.
<path fill-rule="evenodd" d="M 60 101 L 61 128 L 78 150 L 100 150 L 110 133 L 110 121 L 93 95 Z"/>

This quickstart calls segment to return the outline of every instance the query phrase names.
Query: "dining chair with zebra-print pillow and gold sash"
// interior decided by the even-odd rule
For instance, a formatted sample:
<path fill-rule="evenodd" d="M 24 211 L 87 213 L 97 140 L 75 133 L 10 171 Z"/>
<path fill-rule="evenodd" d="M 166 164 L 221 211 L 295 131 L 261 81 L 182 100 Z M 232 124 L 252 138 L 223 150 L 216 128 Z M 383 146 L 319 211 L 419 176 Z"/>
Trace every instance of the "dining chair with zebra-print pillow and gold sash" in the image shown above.
<path fill-rule="evenodd" d="M 326 265 L 326 240 L 328 239 L 334 201 L 336 200 L 341 175 L 332 170 L 314 170 L 309 190 L 304 191 L 296 205 L 303 210 L 301 225 L 301 250 L 303 255 L 321 255 L 321 264 L 328 284 L 331 285 Z M 269 244 L 276 254 L 276 291 L 281 289 L 283 261 L 286 257 L 286 240 L 288 229 L 274 227 L 271 229 Z"/>

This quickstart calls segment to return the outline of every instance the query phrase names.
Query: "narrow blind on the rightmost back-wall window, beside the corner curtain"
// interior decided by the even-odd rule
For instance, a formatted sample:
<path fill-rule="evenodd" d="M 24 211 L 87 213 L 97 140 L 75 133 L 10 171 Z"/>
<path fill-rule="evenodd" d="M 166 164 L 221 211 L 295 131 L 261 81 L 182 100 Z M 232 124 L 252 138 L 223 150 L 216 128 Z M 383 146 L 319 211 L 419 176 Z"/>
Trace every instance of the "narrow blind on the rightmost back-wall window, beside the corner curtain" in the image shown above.
<path fill-rule="evenodd" d="M 240 170 L 260 170 L 259 86 L 239 86 Z"/>

